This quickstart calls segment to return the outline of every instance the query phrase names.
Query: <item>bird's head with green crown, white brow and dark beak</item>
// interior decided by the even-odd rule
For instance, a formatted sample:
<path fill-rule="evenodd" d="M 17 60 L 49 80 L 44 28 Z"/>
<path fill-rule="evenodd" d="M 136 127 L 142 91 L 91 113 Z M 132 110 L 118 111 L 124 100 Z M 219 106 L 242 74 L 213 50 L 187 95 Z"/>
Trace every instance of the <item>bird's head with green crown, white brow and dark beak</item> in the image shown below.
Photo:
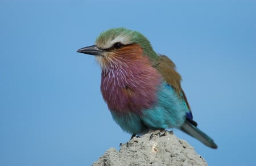
<path fill-rule="evenodd" d="M 86 46 L 77 52 L 96 56 L 102 70 L 123 62 L 132 62 L 142 56 L 147 56 L 150 60 L 158 57 L 146 37 L 126 28 L 102 32 L 95 45 Z"/>

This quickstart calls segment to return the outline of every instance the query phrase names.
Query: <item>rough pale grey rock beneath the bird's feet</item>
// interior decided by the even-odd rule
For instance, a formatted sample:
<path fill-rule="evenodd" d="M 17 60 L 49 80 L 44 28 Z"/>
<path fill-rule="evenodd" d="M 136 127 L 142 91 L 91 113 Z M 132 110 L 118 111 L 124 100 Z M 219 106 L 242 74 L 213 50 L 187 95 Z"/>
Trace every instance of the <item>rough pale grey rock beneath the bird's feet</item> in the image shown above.
<path fill-rule="evenodd" d="M 120 165 L 207 165 L 207 162 L 186 141 L 178 139 L 174 134 L 162 137 L 152 133 L 134 137 L 121 144 L 120 151 L 109 148 L 93 166 Z"/>

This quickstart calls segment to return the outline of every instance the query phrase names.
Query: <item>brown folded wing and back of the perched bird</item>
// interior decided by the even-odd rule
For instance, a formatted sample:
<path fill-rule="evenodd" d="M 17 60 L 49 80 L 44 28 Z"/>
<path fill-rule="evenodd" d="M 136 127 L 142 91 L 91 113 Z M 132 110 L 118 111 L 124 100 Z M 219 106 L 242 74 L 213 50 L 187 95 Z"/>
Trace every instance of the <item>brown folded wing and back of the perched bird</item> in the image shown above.
<path fill-rule="evenodd" d="M 153 65 L 159 73 L 163 75 L 163 78 L 166 80 L 168 84 L 174 87 L 174 90 L 177 92 L 178 95 L 184 97 L 185 103 L 187 104 L 188 109 L 190 110 L 187 97 L 185 96 L 184 91 L 181 88 L 181 76 L 176 71 L 176 65 L 170 58 L 167 56 L 161 55 L 158 60 L 155 61 Z"/>

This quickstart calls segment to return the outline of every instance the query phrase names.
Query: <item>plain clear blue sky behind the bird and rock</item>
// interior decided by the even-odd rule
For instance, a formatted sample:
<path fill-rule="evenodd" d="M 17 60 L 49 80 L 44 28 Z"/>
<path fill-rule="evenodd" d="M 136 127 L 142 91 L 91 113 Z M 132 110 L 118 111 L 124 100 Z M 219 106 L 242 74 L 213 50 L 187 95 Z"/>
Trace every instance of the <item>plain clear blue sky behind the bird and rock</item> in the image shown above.
<path fill-rule="evenodd" d="M 100 92 L 100 32 L 141 32 L 183 76 L 213 150 L 209 165 L 255 165 L 256 1 L 0 1 L 0 165 L 91 165 L 130 139 Z"/>

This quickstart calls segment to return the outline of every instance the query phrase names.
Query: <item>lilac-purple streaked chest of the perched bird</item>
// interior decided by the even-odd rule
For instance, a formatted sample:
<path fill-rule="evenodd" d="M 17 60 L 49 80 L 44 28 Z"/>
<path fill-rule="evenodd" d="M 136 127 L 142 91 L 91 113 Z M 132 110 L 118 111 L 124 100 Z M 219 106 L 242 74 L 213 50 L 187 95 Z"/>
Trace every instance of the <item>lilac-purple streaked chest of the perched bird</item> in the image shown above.
<path fill-rule="evenodd" d="M 122 116 L 134 112 L 141 114 L 156 102 L 160 76 L 155 70 L 129 72 L 124 70 L 102 71 L 101 92 L 110 111 Z"/>

